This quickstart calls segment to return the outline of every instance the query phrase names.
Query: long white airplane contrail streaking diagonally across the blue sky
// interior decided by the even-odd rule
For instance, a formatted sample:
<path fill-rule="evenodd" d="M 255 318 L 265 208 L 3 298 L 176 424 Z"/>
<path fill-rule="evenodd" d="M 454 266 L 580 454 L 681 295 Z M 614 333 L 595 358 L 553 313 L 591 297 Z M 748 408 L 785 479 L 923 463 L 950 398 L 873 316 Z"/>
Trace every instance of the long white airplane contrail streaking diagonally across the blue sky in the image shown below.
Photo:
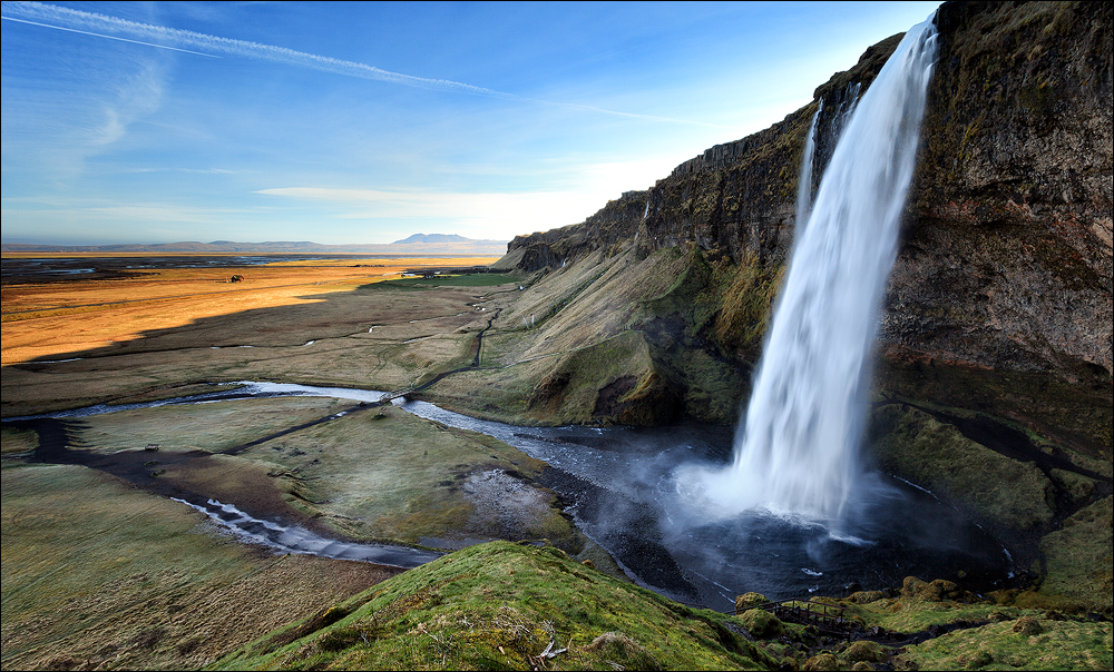
<path fill-rule="evenodd" d="M 452 81 L 449 79 L 430 79 L 426 77 L 416 77 L 413 75 L 404 75 L 402 72 L 392 72 L 390 70 L 383 70 L 381 68 L 369 66 L 367 63 L 341 60 L 328 56 L 317 56 L 314 53 L 306 53 L 304 51 L 295 51 L 293 49 L 286 49 L 285 47 L 276 47 L 274 45 L 262 45 L 260 42 L 250 42 L 246 40 L 222 38 L 217 36 L 194 32 L 192 30 L 182 30 L 178 28 L 166 28 L 164 26 L 139 23 L 137 21 L 120 19 L 118 17 L 109 17 L 107 14 L 99 14 L 77 9 L 69 9 L 66 7 L 47 4 L 43 2 L 6 1 L 2 4 L 2 12 L 3 12 L 2 18 L 10 21 L 29 23 L 32 26 L 41 26 L 43 28 L 53 28 L 56 30 L 65 30 L 68 32 L 78 32 L 81 34 L 107 38 L 110 40 L 121 40 L 125 42 L 145 45 L 148 47 L 157 47 L 160 49 L 184 51 L 197 56 L 219 58 L 216 57 L 215 53 L 225 53 L 229 56 L 253 58 L 274 63 L 301 66 L 303 68 L 311 68 L 313 70 L 332 72 L 335 75 L 343 75 L 348 77 L 358 77 L 361 79 L 388 81 L 392 83 L 403 85 L 408 87 L 417 87 L 421 89 L 436 89 L 441 91 L 469 93 L 473 96 L 486 96 L 489 98 L 499 98 L 502 100 L 559 106 L 565 108 L 579 109 L 584 111 L 599 112 L 604 115 L 628 117 L 633 119 L 646 119 L 652 121 L 666 121 L 671 123 L 690 123 L 696 126 L 717 127 L 714 123 L 705 123 L 702 121 L 673 119 L 670 117 L 657 117 L 654 115 L 638 115 L 634 112 L 620 112 L 616 110 L 608 110 L 588 105 L 579 105 L 575 102 L 555 102 L 551 100 L 528 98 L 525 96 L 518 96 L 516 93 L 497 91 L 495 89 L 487 89 L 483 87 L 477 87 L 473 85 Z M 121 37 L 121 36 L 127 36 L 127 37 Z M 194 51 L 194 49 L 198 49 L 201 51 Z"/>

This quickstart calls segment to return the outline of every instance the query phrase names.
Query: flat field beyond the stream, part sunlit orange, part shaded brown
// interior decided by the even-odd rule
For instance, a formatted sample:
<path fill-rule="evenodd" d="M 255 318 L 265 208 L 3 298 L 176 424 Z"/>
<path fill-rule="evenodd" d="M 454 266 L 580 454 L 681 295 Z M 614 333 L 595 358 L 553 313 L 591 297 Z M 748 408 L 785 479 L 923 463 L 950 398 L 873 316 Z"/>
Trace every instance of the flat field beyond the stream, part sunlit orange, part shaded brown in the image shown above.
<path fill-rule="evenodd" d="M 377 289 L 379 283 L 407 269 L 492 260 L 344 258 L 128 269 L 136 261 L 128 257 L 51 281 L 13 280 L 6 271 L 2 413 L 149 398 L 202 382 L 402 387 L 463 360 L 473 338 L 470 325 L 483 316 L 473 305 L 478 297 L 517 286 L 441 280 L 408 291 Z M 231 281 L 234 275 L 243 281 Z M 483 279 L 512 283 L 499 274 Z"/>

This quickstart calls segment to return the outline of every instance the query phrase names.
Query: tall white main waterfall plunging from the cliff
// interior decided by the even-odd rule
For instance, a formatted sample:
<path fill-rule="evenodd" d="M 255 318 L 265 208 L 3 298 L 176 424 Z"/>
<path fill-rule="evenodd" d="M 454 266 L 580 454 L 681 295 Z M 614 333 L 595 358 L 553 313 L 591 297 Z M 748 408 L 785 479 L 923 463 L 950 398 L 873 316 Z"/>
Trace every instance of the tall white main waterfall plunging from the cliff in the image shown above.
<path fill-rule="evenodd" d="M 906 33 L 847 121 L 793 246 L 733 464 L 690 480 L 721 517 L 762 508 L 843 520 L 863 475 L 870 348 L 935 60 L 930 18 Z"/>

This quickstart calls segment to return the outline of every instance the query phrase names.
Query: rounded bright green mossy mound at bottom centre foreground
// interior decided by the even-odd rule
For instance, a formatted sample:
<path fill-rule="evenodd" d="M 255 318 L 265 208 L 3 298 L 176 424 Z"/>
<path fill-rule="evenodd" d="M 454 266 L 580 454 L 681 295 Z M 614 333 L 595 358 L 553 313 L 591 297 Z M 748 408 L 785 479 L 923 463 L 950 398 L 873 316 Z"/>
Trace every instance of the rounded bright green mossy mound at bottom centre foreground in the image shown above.
<path fill-rule="evenodd" d="M 551 546 L 492 542 L 400 574 L 213 669 L 779 666 L 737 630 L 731 616 L 606 576 Z"/>

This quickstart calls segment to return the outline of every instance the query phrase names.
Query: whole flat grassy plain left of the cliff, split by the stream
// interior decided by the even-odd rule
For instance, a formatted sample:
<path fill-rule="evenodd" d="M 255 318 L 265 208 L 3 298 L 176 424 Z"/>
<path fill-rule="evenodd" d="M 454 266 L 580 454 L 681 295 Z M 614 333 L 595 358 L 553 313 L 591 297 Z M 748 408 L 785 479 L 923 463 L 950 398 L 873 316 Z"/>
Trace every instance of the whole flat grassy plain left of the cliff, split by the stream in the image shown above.
<path fill-rule="evenodd" d="M 2 414 L 149 402 L 244 379 L 404 387 L 470 363 L 477 334 L 519 286 L 504 274 L 402 271 L 491 260 L 90 259 L 92 271 L 31 281 L 6 268 Z M 267 439 L 344 408 L 351 415 Z M 50 464 L 37 449 L 57 437 L 42 431 L 2 428 L 3 669 L 196 668 L 399 571 L 276 556 L 156 494 L 166 488 L 338 538 L 450 550 L 546 537 L 595 553 L 534 482 L 541 463 L 390 407 L 235 399 L 61 423 L 67 451 L 126 457 L 157 444 L 139 458 L 149 484 L 143 474 Z"/>

